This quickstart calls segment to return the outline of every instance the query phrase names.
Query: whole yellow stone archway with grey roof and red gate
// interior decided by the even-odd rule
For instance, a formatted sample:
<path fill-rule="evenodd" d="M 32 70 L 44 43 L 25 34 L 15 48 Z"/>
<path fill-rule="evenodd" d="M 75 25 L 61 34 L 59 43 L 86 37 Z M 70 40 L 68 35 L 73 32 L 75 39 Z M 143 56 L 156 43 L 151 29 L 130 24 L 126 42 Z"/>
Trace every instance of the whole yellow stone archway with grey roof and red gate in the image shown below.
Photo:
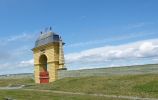
<path fill-rule="evenodd" d="M 35 83 L 50 83 L 58 79 L 58 70 L 64 68 L 64 42 L 61 37 L 45 31 L 40 34 L 32 49 Z"/>

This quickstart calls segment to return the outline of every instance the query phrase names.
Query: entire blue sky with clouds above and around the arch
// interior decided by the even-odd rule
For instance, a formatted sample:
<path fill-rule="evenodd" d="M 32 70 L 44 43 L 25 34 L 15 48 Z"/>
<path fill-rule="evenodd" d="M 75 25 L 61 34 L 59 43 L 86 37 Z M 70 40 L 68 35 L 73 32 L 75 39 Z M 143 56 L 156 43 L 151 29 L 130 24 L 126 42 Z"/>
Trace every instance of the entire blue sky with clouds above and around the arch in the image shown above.
<path fill-rule="evenodd" d="M 0 74 L 33 73 L 35 40 L 61 35 L 69 70 L 158 63 L 157 0 L 0 0 Z"/>

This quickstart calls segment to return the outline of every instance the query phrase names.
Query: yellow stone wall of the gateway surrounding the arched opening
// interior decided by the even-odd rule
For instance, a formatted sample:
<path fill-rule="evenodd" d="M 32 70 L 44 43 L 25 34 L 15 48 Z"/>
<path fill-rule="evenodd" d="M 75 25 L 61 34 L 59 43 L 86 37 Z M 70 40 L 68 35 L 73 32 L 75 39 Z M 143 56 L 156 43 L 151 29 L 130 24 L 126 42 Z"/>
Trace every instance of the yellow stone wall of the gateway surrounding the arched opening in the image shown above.
<path fill-rule="evenodd" d="M 35 82 L 40 83 L 39 79 L 39 58 L 41 55 L 46 55 L 47 57 L 47 66 L 49 72 L 49 82 L 53 82 L 58 79 L 57 71 L 59 69 L 59 43 L 50 43 L 44 46 L 40 46 L 33 49 L 34 53 L 34 75 Z"/>

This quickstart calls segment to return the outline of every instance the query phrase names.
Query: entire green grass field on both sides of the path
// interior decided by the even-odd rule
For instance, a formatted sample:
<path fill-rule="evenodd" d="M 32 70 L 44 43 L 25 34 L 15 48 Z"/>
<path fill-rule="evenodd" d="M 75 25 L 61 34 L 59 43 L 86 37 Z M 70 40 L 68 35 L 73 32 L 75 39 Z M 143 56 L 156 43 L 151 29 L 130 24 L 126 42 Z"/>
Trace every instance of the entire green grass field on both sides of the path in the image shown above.
<path fill-rule="evenodd" d="M 108 75 L 105 77 L 71 77 L 60 79 L 50 84 L 35 84 L 32 78 L 0 79 L 0 87 L 18 85 L 25 85 L 26 87 L 24 88 L 26 89 L 158 98 L 158 73 L 121 74 Z M 0 97 L 5 96 L 11 96 L 18 100 L 116 100 L 116 98 L 90 95 L 66 95 L 62 93 L 57 94 L 24 90 L 0 90 Z"/>

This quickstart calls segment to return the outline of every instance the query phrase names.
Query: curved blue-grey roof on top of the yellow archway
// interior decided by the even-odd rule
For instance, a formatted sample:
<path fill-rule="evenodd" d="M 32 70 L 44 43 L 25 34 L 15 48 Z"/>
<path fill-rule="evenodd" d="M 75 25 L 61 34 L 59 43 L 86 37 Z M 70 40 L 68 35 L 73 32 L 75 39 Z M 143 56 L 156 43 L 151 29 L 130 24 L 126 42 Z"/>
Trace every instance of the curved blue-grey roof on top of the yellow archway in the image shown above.
<path fill-rule="evenodd" d="M 35 42 L 35 48 L 53 42 L 59 42 L 60 36 L 54 32 L 41 33 Z"/>

